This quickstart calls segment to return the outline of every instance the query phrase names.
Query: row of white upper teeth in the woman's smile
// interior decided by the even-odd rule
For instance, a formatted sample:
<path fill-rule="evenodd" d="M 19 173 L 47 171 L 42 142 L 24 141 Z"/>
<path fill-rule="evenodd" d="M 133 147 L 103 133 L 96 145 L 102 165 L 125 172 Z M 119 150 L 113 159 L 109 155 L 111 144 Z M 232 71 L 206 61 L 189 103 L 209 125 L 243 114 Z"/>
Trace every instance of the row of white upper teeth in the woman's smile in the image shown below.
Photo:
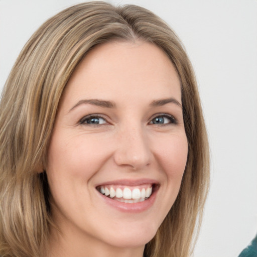
<path fill-rule="evenodd" d="M 152 194 L 152 186 L 147 187 L 147 189 L 139 188 L 130 189 L 129 187 L 125 187 L 123 190 L 120 187 L 117 187 L 116 190 L 114 187 L 100 187 L 100 192 L 110 198 L 123 198 L 123 199 L 141 199 L 148 198 Z"/>

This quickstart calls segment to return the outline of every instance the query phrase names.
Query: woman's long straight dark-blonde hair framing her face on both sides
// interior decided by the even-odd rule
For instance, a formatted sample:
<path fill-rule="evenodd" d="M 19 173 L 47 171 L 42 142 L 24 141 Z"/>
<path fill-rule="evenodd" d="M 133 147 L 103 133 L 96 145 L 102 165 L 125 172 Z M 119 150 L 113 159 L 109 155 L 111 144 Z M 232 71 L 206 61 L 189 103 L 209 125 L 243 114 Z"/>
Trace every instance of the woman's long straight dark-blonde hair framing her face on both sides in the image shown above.
<path fill-rule="evenodd" d="M 189 146 L 179 195 L 145 255 L 189 256 L 209 181 L 208 142 L 190 61 L 175 33 L 152 12 L 104 2 L 70 7 L 45 22 L 6 82 L 0 104 L 0 255 L 42 256 L 52 221 L 47 179 L 40 172 L 62 92 L 94 46 L 135 39 L 163 49 L 176 68 Z"/>

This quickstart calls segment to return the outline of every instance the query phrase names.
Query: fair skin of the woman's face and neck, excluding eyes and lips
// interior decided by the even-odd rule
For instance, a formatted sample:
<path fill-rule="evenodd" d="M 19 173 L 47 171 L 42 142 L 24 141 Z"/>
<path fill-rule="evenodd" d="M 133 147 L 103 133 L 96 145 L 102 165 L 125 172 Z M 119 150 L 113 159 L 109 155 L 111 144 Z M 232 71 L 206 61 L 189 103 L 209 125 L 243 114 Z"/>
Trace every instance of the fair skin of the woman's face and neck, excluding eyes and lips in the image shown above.
<path fill-rule="evenodd" d="M 115 107 L 81 102 L 89 99 Z M 90 114 L 100 124 L 87 123 Z M 178 195 L 187 152 L 180 81 L 166 54 L 141 41 L 94 48 L 69 79 L 50 142 L 46 172 L 60 232 L 51 229 L 47 256 L 142 257 Z M 96 186 L 117 179 L 157 181 L 154 203 L 137 213 L 113 208 Z"/>

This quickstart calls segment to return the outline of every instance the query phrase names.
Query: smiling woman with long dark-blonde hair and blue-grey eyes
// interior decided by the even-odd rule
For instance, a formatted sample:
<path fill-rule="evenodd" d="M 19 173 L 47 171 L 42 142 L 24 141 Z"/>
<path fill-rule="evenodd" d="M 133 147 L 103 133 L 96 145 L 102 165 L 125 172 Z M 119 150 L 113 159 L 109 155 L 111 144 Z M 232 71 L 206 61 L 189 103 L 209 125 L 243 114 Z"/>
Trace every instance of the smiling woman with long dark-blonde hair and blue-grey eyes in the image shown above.
<path fill-rule="evenodd" d="M 1 255 L 190 255 L 208 144 L 190 62 L 160 18 L 64 10 L 26 44 L 0 108 Z"/>

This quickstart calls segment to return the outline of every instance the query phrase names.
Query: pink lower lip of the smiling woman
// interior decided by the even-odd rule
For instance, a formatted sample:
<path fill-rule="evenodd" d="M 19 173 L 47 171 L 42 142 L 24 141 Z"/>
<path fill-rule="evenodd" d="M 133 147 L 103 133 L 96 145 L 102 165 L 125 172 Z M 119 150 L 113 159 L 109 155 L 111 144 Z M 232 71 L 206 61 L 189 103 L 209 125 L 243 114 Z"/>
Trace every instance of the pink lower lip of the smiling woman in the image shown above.
<path fill-rule="evenodd" d="M 148 210 L 151 206 L 153 206 L 156 198 L 158 189 L 154 190 L 152 195 L 145 201 L 143 202 L 138 202 L 138 203 L 124 203 L 124 202 L 119 202 L 117 200 L 113 200 L 109 197 L 104 196 L 100 192 L 97 191 L 99 196 L 111 207 L 122 211 L 122 212 L 131 212 L 131 213 L 139 213 Z"/>

